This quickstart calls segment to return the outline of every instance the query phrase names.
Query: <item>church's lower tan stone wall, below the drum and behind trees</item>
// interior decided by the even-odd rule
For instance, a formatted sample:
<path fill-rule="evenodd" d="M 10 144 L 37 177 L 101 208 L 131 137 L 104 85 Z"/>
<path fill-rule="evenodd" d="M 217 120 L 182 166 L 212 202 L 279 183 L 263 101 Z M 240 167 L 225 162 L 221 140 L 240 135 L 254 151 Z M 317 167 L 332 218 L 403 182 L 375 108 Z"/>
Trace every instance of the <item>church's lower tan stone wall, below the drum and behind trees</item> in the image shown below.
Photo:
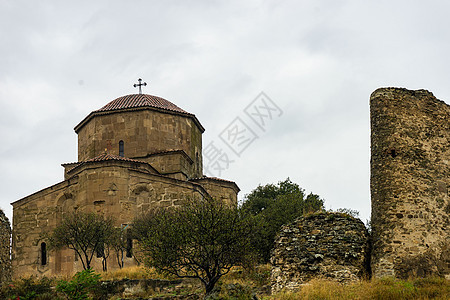
<path fill-rule="evenodd" d="M 47 253 L 41 263 L 40 247 L 50 232 L 74 209 L 113 216 L 116 226 L 126 226 L 152 207 L 181 205 L 184 199 L 201 199 L 204 190 L 187 181 L 150 174 L 138 165 L 120 161 L 85 164 L 71 179 L 46 188 L 13 203 L 13 276 L 72 275 L 82 270 L 73 250 Z M 108 258 L 108 269 L 118 268 L 115 255 Z M 134 258 L 124 257 L 125 266 Z M 102 269 L 101 259 L 92 266 Z"/>

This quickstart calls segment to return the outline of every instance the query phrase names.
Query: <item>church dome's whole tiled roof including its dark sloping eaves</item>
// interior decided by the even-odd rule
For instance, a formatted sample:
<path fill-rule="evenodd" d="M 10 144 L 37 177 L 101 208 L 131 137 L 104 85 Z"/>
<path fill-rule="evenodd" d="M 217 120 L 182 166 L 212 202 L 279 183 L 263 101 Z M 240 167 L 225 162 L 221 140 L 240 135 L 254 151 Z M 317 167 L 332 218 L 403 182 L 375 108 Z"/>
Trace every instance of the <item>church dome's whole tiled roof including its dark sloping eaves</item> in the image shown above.
<path fill-rule="evenodd" d="M 157 110 L 169 114 L 176 115 L 184 115 L 188 118 L 191 118 L 195 124 L 198 126 L 201 132 L 205 131 L 202 124 L 200 124 L 199 120 L 195 117 L 194 114 L 188 113 L 182 108 L 179 108 L 172 102 L 157 96 L 146 95 L 146 94 L 132 94 L 119 97 L 109 102 L 102 108 L 98 110 L 94 110 L 91 112 L 86 118 L 83 119 L 77 126 L 75 126 L 75 132 L 78 131 L 89 122 L 94 116 L 98 115 L 106 115 L 117 113 L 121 111 L 130 111 L 130 110 L 142 110 L 142 109 L 150 109 Z"/>

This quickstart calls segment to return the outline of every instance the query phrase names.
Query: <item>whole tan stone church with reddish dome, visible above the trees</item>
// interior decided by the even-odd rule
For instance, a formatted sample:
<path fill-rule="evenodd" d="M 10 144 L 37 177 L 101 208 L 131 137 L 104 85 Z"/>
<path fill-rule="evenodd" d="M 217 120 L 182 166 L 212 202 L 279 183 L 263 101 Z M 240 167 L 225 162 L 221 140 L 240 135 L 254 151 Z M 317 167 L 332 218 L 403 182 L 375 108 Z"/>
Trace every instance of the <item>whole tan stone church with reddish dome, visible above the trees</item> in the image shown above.
<path fill-rule="evenodd" d="M 236 204 L 236 183 L 203 176 L 204 130 L 194 114 L 141 93 L 91 112 L 75 126 L 78 162 L 62 164 L 64 180 L 12 203 L 14 276 L 82 270 L 73 250 L 49 251 L 42 238 L 74 210 L 112 215 L 125 228 L 149 208 L 178 206 L 188 198 Z M 134 264 L 126 255 L 124 266 Z M 101 259 L 94 258 L 93 266 L 101 270 Z"/>

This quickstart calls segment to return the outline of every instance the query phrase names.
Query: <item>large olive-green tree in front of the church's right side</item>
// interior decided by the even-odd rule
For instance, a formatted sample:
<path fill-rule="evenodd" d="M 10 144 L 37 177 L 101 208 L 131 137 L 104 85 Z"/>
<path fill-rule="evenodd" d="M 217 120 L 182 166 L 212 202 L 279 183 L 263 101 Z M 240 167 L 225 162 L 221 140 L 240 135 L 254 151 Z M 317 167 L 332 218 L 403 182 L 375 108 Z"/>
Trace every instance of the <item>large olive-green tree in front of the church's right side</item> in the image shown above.
<path fill-rule="evenodd" d="M 146 265 L 200 279 L 206 294 L 233 266 L 252 258 L 251 220 L 214 200 L 151 211 L 135 220 L 133 230 Z"/>

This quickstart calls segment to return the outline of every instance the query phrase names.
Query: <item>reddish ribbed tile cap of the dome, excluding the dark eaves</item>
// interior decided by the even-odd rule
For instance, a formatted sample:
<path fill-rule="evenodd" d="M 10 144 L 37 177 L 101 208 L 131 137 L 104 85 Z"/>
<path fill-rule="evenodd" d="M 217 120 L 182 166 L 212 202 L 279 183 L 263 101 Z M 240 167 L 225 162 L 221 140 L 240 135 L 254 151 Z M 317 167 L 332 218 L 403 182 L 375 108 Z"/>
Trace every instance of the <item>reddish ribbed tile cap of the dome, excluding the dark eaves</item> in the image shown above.
<path fill-rule="evenodd" d="M 119 97 L 109 102 L 99 110 L 96 110 L 96 112 L 137 108 L 137 107 L 154 107 L 179 112 L 182 114 L 189 114 L 184 109 L 179 108 L 178 106 L 176 106 L 175 104 L 166 99 L 146 94 L 133 94 Z"/>

